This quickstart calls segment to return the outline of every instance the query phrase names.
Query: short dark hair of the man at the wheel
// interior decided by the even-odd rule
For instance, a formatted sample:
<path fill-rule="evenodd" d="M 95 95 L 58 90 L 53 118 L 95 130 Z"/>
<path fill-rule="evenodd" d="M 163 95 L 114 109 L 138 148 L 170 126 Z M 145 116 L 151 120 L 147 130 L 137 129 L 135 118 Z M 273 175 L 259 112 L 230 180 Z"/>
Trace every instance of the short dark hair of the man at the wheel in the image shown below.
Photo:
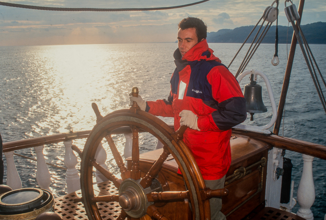
<path fill-rule="evenodd" d="M 181 30 L 185 30 L 188 28 L 196 28 L 196 35 L 198 38 L 198 42 L 203 38 L 206 39 L 207 37 L 207 26 L 199 18 L 194 18 L 194 17 L 184 18 L 180 21 L 178 27 Z"/>

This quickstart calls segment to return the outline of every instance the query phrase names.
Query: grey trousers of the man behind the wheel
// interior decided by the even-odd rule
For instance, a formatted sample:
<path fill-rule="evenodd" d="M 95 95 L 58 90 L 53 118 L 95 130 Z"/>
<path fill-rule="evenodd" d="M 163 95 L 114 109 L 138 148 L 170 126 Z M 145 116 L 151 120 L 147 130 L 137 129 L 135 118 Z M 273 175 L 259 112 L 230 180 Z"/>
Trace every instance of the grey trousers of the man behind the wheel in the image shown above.
<path fill-rule="evenodd" d="M 224 188 L 225 176 L 217 180 L 204 180 L 206 188 L 221 189 Z M 211 206 L 211 220 L 226 220 L 226 217 L 221 213 L 222 198 L 211 198 L 209 200 Z"/>

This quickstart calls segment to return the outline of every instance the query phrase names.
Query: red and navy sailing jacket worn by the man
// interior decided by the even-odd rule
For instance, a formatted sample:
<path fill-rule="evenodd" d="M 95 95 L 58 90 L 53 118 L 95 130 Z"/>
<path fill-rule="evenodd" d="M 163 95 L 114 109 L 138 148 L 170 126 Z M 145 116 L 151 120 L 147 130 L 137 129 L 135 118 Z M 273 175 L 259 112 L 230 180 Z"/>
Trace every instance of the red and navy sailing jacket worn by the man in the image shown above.
<path fill-rule="evenodd" d="M 194 112 L 200 131 L 188 128 L 184 142 L 203 179 L 220 179 L 231 163 L 231 127 L 246 118 L 241 88 L 228 68 L 213 55 L 206 40 L 193 46 L 182 58 L 179 49 L 173 56 L 176 69 L 170 80 L 170 95 L 167 100 L 147 101 L 146 111 L 174 117 L 175 130 L 180 127 L 182 110 Z"/>

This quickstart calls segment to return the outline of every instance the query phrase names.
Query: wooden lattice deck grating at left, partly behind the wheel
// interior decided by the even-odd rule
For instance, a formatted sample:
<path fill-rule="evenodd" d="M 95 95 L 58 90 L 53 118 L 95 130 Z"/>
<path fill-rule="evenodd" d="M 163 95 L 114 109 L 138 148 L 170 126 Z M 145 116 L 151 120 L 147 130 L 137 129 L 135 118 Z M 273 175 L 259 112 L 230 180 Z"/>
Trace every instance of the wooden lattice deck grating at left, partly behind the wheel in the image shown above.
<path fill-rule="evenodd" d="M 96 196 L 115 194 L 118 195 L 118 189 L 115 188 L 111 182 L 103 182 L 94 185 L 94 194 Z M 55 212 L 59 214 L 63 220 L 88 219 L 82 202 L 74 202 L 76 197 L 82 197 L 82 192 L 80 190 L 69 193 L 65 196 L 58 197 L 54 200 Z M 99 202 L 97 203 L 97 206 L 103 220 L 116 219 L 121 213 L 121 208 L 117 202 Z"/>

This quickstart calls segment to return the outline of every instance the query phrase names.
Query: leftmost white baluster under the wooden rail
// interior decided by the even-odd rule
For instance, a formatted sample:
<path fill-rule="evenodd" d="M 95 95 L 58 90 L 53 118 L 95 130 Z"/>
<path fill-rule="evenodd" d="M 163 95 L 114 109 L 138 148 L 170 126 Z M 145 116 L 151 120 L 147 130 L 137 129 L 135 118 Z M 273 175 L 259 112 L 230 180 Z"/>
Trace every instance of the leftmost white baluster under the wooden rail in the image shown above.
<path fill-rule="evenodd" d="M 14 161 L 14 151 L 4 153 L 7 160 L 7 185 L 12 189 L 22 188 L 22 180 L 19 177 Z"/>

